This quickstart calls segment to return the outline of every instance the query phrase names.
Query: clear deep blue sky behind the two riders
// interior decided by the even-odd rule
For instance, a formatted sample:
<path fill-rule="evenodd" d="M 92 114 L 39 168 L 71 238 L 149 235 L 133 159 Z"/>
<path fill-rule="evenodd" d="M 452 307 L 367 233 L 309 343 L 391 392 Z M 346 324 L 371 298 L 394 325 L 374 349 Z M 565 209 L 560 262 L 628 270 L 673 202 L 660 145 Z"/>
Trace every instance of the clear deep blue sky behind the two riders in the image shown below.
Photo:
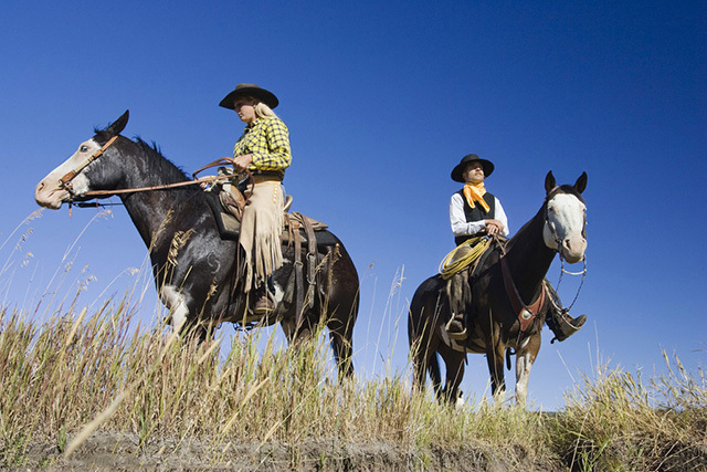
<path fill-rule="evenodd" d="M 704 2 L 10 0 L 0 44 L 6 304 L 88 277 L 83 304 L 131 286 L 146 249 L 120 207 L 83 232 L 68 282 L 50 284 L 96 212 L 44 211 L 11 235 L 36 209 L 34 186 L 127 108 L 124 134 L 186 171 L 228 156 L 243 125 L 218 103 L 249 82 L 279 97 L 293 209 L 327 222 L 359 270 L 363 377 L 405 366 L 407 304 L 453 249 L 450 171 L 468 153 L 496 164 L 487 188 L 511 233 L 540 207 L 548 170 L 569 183 L 589 175 L 573 307 L 589 322 L 561 344 L 546 328 L 531 401 L 563 405 L 598 359 L 652 374 L 666 349 L 705 364 Z M 579 285 L 564 276 L 566 303 Z M 486 382 L 485 359 L 471 356 L 464 390 Z"/>

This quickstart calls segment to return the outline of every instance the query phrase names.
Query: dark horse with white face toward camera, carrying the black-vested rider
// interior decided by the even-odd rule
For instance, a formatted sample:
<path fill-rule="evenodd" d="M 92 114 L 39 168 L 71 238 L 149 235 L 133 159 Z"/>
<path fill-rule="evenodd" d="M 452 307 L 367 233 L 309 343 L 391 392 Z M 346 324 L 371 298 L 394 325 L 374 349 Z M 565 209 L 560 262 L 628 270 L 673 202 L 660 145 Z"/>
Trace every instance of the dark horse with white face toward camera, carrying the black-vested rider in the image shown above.
<path fill-rule="evenodd" d="M 473 280 L 467 272 L 472 296 L 464 310 L 473 315 L 467 321 L 464 342 L 456 343 L 446 335 L 444 325 L 452 316 L 446 281 L 435 275 L 418 287 L 408 323 L 418 387 L 424 386 L 429 370 L 437 396 L 456 401 L 466 353 L 476 353 L 486 355 L 492 394 L 496 396 L 505 390 L 504 355 L 513 349 L 516 400 L 525 405 L 528 377 L 540 349 L 540 332 L 550 303 L 545 294 L 545 275 L 558 252 L 570 263 L 584 258 L 587 207 L 581 193 L 585 187 L 585 172 L 574 186 L 560 187 L 548 172 L 546 198 L 538 213 L 507 242 L 505 250 L 494 247 Z M 444 388 L 436 354 L 446 366 Z"/>

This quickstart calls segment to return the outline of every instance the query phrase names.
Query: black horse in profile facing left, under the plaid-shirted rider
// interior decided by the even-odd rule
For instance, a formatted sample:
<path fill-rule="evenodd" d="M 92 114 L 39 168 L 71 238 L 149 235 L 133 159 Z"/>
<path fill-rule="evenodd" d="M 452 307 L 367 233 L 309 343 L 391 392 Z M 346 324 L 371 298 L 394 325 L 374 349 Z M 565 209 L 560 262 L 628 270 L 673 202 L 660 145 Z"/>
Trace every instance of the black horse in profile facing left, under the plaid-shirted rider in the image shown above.
<path fill-rule="evenodd" d="M 180 185 L 190 179 L 155 147 L 120 136 L 128 112 L 106 129 L 82 143 L 78 150 L 36 186 L 42 207 L 86 200 L 87 192 L 117 191 L 143 241 L 148 247 L 161 301 L 170 323 L 184 333 L 205 337 L 221 322 L 245 324 L 247 297 L 234 290 L 239 244 L 222 239 L 207 195 L 200 186 L 130 191 Z M 292 296 L 295 249 L 283 244 L 284 265 L 273 274 L 279 303 L 261 324 L 281 323 L 288 342 L 304 339 L 326 323 L 339 374 L 351 376 L 352 332 L 358 314 L 359 280 L 344 244 L 329 231 L 317 232 L 320 283 L 312 304 L 299 316 Z M 303 256 L 302 259 L 305 259 Z M 312 306 L 308 306 L 312 305 Z M 307 307 L 308 306 L 308 307 Z"/>

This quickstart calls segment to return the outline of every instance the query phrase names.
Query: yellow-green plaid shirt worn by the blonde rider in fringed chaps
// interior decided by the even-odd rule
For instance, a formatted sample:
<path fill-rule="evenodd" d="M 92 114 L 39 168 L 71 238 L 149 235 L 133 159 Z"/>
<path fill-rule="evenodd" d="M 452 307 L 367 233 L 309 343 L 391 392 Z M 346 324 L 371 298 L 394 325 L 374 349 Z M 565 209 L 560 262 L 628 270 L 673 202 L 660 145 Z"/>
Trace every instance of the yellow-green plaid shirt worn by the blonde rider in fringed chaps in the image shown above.
<path fill-rule="evenodd" d="M 289 132 L 275 117 L 258 118 L 245 127 L 243 135 L 233 146 L 233 157 L 252 154 L 251 171 L 264 170 L 285 177 L 285 169 L 292 162 Z"/>

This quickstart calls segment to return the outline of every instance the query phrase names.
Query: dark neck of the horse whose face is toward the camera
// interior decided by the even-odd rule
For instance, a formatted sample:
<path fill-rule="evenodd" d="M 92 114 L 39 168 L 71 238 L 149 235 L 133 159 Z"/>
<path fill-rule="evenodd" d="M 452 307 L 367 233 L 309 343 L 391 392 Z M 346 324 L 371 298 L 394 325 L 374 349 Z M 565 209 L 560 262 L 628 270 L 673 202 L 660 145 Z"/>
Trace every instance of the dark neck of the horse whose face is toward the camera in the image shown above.
<path fill-rule="evenodd" d="M 544 209 L 510 239 L 505 255 L 514 283 L 526 303 L 530 303 L 539 293 L 555 259 L 555 251 L 545 244 L 542 238 Z"/>

